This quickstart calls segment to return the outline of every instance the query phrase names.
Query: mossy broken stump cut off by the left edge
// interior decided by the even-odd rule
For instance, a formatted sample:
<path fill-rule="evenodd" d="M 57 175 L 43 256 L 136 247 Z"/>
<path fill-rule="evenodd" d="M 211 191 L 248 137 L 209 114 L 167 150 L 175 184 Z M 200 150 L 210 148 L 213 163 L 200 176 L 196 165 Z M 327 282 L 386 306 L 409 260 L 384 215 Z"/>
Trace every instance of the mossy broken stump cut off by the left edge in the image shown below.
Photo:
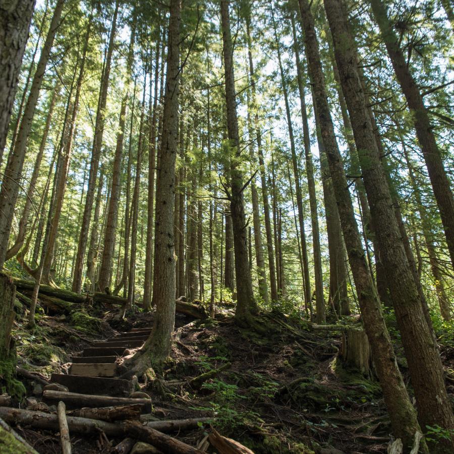
<path fill-rule="evenodd" d="M 0 273 L 0 377 L 8 394 L 21 396 L 23 384 L 14 378 L 16 374 L 16 348 L 11 335 L 15 317 L 14 300 L 16 286 L 10 276 Z"/>

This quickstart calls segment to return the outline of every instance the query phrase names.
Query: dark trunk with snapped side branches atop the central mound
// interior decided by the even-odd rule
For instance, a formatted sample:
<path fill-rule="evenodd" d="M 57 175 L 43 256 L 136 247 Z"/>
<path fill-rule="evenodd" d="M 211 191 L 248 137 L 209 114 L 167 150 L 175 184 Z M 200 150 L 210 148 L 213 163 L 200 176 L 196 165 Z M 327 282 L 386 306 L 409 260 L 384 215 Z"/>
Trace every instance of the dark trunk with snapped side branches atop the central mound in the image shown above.
<path fill-rule="evenodd" d="M 246 216 L 244 213 L 243 175 L 236 163 L 240 156 L 240 136 L 238 131 L 237 106 L 235 94 L 235 74 L 233 65 L 233 46 L 230 30 L 229 1 L 221 0 L 221 28 L 225 73 L 225 98 L 227 107 L 227 129 L 233 151 L 230 178 L 230 210 L 234 234 L 235 274 L 237 281 L 237 309 L 235 318 L 239 325 L 251 323 L 251 313 L 257 311 L 257 303 L 252 292 L 251 273 L 248 264 L 248 242 Z"/>

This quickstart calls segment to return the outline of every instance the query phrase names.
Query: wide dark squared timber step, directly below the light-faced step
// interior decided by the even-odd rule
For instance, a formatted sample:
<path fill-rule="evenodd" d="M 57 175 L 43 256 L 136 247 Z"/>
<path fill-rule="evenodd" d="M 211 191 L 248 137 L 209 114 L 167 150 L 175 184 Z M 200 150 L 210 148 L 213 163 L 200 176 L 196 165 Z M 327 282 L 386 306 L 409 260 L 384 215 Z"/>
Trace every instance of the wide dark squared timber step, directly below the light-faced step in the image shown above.
<path fill-rule="evenodd" d="M 52 374 L 51 383 L 60 383 L 71 392 L 83 394 L 100 394 L 122 396 L 129 395 L 133 390 L 129 380 L 120 378 L 84 377 L 81 375 Z"/>

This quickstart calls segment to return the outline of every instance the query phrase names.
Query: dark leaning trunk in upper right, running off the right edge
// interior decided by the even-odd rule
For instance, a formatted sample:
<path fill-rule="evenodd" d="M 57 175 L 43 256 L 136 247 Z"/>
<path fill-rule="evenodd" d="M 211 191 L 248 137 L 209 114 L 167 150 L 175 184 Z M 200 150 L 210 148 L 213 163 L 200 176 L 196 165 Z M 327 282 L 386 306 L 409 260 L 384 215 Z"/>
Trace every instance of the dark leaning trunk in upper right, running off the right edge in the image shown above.
<path fill-rule="evenodd" d="M 381 0 L 370 0 L 370 4 L 386 45 L 396 78 L 401 85 L 402 91 L 407 99 L 408 107 L 412 113 L 411 118 L 414 122 L 416 136 L 423 152 L 435 200 L 440 210 L 451 264 L 454 266 L 454 198 L 452 197 L 449 179 L 443 166 L 440 150 L 435 141 L 429 112 L 424 105 L 420 88 L 410 72 L 410 67 L 400 47 L 399 39 L 388 19 L 386 6 Z"/>

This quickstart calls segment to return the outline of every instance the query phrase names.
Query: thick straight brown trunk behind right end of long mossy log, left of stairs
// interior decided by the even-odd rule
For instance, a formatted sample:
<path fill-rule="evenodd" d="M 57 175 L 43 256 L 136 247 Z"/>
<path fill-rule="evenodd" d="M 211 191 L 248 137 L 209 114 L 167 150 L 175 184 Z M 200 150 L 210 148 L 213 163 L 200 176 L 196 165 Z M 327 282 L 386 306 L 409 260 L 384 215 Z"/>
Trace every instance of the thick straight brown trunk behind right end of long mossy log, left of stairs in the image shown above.
<path fill-rule="evenodd" d="M 127 67 L 131 71 L 134 61 L 134 41 L 135 41 L 135 15 L 133 15 L 133 23 L 131 29 L 131 37 L 129 41 L 129 50 L 127 58 Z M 115 147 L 115 155 L 113 156 L 112 164 L 112 183 L 110 187 L 110 199 L 107 210 L 107 220 L 104 233 L 104 248 L 101 257 L 101 267 L 99 269 L 99 280 L 97 288 L 100 292 L 104 292 L 105 288 L 110 286 L 112 278 L 112 258 L 113 249 L 115 248 L 115 232 L 117 230 L 118 203 L 120 200 L 120 177 L 123 157 L 123 142 L 125 137 L 126 110 L 128 98 L 130 95 L 131 76 L 127 76 L 126 92 L 122 99 L 120 107 L 120 120 L 117 133 L 117 144 Z"/>

